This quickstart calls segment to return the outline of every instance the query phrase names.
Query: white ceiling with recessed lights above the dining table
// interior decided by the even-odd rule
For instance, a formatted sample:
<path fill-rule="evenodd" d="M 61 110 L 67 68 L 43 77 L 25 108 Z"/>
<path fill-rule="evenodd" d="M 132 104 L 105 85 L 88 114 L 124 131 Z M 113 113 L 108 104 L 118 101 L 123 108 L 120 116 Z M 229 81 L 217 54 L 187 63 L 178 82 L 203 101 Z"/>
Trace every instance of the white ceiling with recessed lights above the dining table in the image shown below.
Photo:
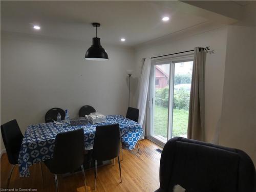
<path fill-rule="evenodd" d="M 170 20 L 162 22 L 163 16 Z M 91 23 L 98 22 L 102 44 L 127 46 L 223 17 L 179 1 L 1 1 L 3 31 L 91 41 Z"/>

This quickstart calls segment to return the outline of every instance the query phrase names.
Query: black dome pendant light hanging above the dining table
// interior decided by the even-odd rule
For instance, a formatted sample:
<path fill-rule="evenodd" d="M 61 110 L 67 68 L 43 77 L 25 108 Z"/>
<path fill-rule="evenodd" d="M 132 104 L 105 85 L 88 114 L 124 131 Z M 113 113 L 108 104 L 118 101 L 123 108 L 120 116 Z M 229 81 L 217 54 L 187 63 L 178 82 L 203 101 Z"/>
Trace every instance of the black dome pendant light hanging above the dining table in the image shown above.
<path fill-rule="evenodd" d="M 93 37 L 93 45 L 87 50 L 84 59 L 98 61 L 109 60 L 108 54 L 100 45 L 100 38 L 97 37 L 97 27 L 100 27 L 100 24 L 93 23 L 92 25 L 93 27 L 96 27 L 96 37 Z"/>

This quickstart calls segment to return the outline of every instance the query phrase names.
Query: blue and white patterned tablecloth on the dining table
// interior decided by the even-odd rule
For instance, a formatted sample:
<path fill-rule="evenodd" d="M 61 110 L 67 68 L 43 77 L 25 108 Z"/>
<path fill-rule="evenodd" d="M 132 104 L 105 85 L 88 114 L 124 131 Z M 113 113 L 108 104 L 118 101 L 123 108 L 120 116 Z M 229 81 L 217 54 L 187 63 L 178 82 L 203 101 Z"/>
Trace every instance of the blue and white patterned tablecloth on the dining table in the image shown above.
<path fill-rule="evenodd" d="M 32 164 L 53 157 L 55 138 L 58 133 L 82 128 L 84 133 L 84 144 L 86 148 L 92 148 L 96 126 L 115 123 L 118 123 L 120 126 L 121 142 L 125 148 L 133 150 L 140 139 L 143 130 L 139 123 L 121 115 L 109 115 L 106 116 L 106 122 L 104 123 L 91 124 L 89 122 L 83 126 L 71 126 L 68 123 L 63 123 L 62 125 L 56 123 L 29 125 L 25 132 L 18 157 L 20 177 L 28 177 L 30 175 L 29 167 Z"/>

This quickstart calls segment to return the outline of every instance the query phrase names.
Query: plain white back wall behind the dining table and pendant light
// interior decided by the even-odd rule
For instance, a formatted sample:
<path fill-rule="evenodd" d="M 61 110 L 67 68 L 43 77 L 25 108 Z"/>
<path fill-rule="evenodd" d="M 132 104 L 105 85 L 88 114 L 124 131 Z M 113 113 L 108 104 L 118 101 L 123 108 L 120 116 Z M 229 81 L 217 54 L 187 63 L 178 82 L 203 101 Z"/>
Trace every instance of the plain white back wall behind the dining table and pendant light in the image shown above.
<path fill-rule="evenodd" d="M 103 45 L 109 61 L 87 61 L 91 43 L 1 34 L 1 123 L 17 119 L 25 132 L 44 122 L 45 113 L 59 107 L 77 117 L 82 105 L 105 115 L 125 115 L 128 105 L 127 69 L 134 50 Z M 4 148 L 1 145 L 1 149 Z"/>

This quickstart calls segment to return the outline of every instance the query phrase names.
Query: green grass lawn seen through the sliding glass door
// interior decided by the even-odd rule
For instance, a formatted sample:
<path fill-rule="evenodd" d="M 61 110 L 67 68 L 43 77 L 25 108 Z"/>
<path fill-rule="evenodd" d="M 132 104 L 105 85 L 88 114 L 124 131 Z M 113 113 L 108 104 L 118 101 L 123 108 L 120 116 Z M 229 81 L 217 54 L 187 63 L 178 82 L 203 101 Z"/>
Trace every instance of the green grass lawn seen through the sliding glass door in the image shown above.
<path fill-rule="evenodd" d="M 167 138 L 168 109 L 155 105 L 154 135 Z M 187 134 L 188 111 L 174 109 L 173 113 L 173 137 Z"/>

